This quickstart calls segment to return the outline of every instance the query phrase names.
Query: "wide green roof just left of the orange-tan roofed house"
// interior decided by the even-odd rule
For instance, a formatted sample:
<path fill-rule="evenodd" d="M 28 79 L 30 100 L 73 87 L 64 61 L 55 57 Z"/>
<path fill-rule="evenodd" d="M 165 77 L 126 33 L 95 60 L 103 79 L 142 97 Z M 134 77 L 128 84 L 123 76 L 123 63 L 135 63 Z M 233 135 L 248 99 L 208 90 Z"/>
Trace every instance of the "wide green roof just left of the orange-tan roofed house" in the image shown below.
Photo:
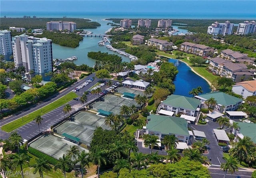
<path fill-rule="evenodd" d="M 224 105 L 224 106 L 229 106 L 229 105 L 236 105 L 238 102 L 242 102 L 242 99 L 239 99 L 237 97 L 233 97 L 231 95 L 228 95 L 226 93 L 220 92 L 220 91 L 215 91 L 212 93 L 206 93 L 202 95 L 198 95 L 199 97 L 202 97 L 206 100 L 210 99 L 213 97 L 218 104 Z"/>

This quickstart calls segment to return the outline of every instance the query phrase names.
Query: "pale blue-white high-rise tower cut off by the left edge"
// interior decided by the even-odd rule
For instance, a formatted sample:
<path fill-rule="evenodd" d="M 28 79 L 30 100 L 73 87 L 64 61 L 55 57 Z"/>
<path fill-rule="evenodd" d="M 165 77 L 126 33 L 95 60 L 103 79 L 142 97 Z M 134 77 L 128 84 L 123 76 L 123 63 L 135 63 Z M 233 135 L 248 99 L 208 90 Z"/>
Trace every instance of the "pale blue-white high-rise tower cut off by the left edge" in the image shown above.
<path fill-rule="evenodd" d="M 11 31 L 0 31 L 0 54 L 4 55 L 4 60 L 9 60 L 12 55 Z"/>

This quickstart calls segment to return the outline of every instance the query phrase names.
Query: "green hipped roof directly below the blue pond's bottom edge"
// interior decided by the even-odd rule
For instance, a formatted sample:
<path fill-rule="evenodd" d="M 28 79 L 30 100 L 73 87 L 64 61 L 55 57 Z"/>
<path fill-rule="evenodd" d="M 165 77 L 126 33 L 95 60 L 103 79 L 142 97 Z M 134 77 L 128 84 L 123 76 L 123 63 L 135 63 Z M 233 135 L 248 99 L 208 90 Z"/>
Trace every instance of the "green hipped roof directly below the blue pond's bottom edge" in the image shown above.
<path fill-rule="evenodd" d="M 170 105 L 172 107 L 182 107 L 184 109 L 196 110 L 201 101 L 198 99 L 185 97 L 181 95 L 169 95 L 163 104 Z"/>

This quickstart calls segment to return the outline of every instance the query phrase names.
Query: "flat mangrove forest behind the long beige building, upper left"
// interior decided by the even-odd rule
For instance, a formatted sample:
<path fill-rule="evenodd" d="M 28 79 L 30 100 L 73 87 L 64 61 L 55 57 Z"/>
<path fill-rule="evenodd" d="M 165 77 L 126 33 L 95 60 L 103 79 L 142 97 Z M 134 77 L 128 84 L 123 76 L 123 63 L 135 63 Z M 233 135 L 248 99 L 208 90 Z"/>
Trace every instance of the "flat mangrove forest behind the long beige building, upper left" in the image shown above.
<path fill-rule="evenodd" d="M 32 28 L 46 28 L 46 23 L 50 21 L 66 21 L 76 22 L 76 28 L 97 28 L 100 26 L 98 22 L 90 22 L 89 19 L 83 18 L 0 18 L 0 26 L 2 29 L 9 29 L 9 27 L 24 27 L 26 29 Z"/>

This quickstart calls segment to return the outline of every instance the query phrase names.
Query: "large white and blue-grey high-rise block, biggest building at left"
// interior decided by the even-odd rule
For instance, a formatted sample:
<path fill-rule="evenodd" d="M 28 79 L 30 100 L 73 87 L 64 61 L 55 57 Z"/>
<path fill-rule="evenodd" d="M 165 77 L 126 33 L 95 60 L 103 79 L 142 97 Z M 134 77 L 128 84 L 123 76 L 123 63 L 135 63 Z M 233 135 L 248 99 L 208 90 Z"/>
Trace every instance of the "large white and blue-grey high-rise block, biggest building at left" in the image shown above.
<path fill-rule="evenodd" d="M 12 49 L 15 67 L 24 66 L 28 78 L 32 70 L 43 79 L 45 73 L 52 71 L 52 40 L 22 34 L 14 37 Z"/>

